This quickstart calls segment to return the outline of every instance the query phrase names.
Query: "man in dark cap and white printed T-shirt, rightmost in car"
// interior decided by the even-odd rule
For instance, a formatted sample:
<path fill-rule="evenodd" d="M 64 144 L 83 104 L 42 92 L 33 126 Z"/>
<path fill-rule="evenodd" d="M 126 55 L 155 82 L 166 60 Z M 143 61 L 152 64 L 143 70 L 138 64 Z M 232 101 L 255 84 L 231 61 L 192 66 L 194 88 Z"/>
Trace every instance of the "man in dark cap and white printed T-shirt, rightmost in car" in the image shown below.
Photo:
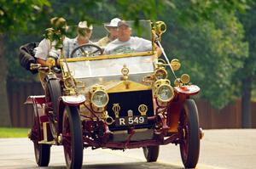
<path fill-rule="evenodd" d="M 152 50 L 152 42 L 141 37 L 131 37 L 131 25 L 125 20 L 118 23 L 118 38 L 108 43 L 105 54 L 127 54 L 133 52 L 145 52 Z M 161 49 L 155 44 L 156 53 L 159 57 Z"/>

